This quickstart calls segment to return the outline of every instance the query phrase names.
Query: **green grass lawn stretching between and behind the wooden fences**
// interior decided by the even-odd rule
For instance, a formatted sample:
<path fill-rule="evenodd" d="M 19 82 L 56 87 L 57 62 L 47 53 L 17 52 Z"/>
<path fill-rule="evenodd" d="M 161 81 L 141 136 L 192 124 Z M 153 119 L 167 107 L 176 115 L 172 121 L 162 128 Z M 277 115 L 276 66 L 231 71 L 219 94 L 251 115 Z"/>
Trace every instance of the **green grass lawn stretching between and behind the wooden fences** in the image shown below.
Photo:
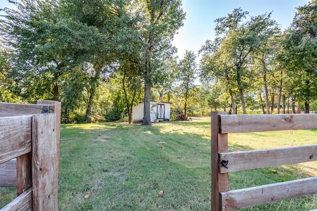
<path fill-rule="evenodd" d="M 317 130 L 229 134 L 229 151 L 317 144 L 316 135 Z M 153 126 L 62 125 L 59 210 L 208 211 L 210 140 L 210 118 Z M 317 162 L 230 173 L 229 186 L 233 190 L 308 176 L 317 176 Z M 14 192 L 0 189 L 0 207 L 8 203 L 2 197 L 10 198 L 8 190 Z M 316 195 L 246 210 L 312 209 L 317 209 Z"/>

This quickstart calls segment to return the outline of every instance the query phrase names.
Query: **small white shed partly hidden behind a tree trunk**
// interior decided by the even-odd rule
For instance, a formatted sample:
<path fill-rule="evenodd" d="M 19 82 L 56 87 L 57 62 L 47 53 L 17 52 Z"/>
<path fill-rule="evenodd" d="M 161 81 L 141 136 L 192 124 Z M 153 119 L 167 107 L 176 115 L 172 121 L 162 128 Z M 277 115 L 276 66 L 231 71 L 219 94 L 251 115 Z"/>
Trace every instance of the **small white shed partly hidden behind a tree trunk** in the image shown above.
<path fill-rule="evenodd" d="M 170 119 L 170 105 L 169 102 L 154 101 L 150 100 L 151 105 L 151 122 L 155 119 Z M 132 108 L 132 121 L 142 122 L 143 121 L 143 109 L 144 103 L 139 103 L 138 106 Z"/>

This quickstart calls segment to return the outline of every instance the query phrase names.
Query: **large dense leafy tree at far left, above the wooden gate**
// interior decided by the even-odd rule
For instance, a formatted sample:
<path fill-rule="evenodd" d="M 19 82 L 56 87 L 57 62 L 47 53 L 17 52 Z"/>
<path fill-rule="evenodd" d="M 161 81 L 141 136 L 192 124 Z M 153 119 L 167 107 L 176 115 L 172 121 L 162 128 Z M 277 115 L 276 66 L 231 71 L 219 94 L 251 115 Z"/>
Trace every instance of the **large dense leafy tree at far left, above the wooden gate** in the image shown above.
<path fill-rule="evenodd" d="M 2 35 L 15 58 L 9 75 L 26 98 L 59 100 L 65 75 L 93 62 L 96 50 L 105 45 L 106 36 L 98 28 L 65 13 L 66 3 L 22 0 L 17 11 L 6 9 Z"/>

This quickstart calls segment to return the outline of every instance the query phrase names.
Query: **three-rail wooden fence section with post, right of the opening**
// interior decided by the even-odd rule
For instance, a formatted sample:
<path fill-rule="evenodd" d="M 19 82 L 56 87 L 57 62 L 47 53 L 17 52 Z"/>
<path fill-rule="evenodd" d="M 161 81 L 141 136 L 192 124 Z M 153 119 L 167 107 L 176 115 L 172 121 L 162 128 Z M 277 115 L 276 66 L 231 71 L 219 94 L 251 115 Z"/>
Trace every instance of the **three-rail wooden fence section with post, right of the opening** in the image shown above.
<path fill-rule="evenodd" d="M 228 153 L 228 133 L 316 129 L 317 114 L 211 112 L 211 210 L 233 211 L 317 193 L 317 177 L 228 190 L 228 173 L 317 160 L 317 145 Z"/>

